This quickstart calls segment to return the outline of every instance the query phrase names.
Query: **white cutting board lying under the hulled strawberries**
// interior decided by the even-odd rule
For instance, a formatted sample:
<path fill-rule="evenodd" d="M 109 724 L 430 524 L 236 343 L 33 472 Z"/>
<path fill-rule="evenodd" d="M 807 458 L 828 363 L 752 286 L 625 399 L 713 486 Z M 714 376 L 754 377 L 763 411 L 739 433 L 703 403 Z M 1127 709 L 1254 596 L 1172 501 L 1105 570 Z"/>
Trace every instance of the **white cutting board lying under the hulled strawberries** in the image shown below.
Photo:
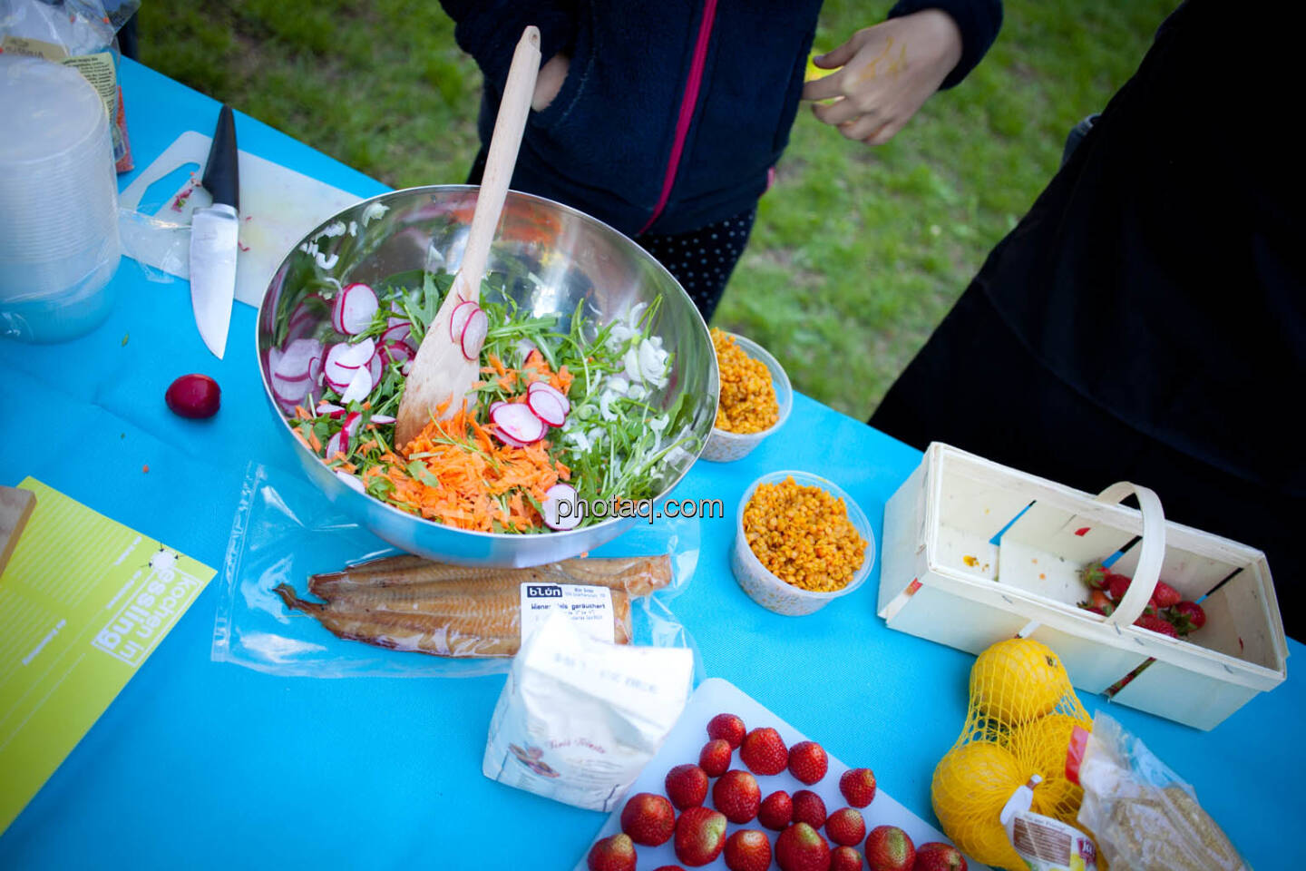
<path fill-rule="evenodd" d="M 705 743 L 708 743 L 708 721 L 721 713 L 739 714 L 743 717 L 743 722 L 748 729 L 771 726 L 780 733 L 780 736 L 785 739 L 785 744 L 789 747 L 793 747 L 801 740 L 808 740 L 807 735 L 803 735 L 784 720 L 763 708 L 760 704 L 754 701 L 751 696 L 744 693 L 739 689 L 739 687 L 734 686 L 729 680 L 722 680 L 721 678 L 708 678 L 699 684 L 699 688 L 693 691 L 692 696 L 690 696 L 690 701 L 684 705 L 684 713 L 682 713 L 680 718 L 675 722 L 675 726 L 671 729 L 671 734 L 666 736 L 666 743 L 662 744 L 662 750 L 660 750 L 657 756 L 654 756 L 653 760 L 644 767 L 644 770 L 640 772 L 639 778 L 636 778 L 635 784 L 631 785 L 627 795 L 635 795 L 636 793 L 665 795 L 663 781 L 666 780 L 666 773 L 683 763 L 699 761 L 699 751 L 703 750 Z M 811 740 L 820 742 L 820 736 L 818 735 Z M 838 778 L 848 770 L 849 767 L 831 756 L 828 751 L 827 756 L 829 759 L 829 770 L 815 786 L 807 786 L 794 778 L 794 776 L 789 772 L 782 772 L 772 777 L 757 777 L 757 785 L 761 786 L 761 797 L 767 798 L 777 789 L 782 789 L 790 795 L 801 789 L 807 789 L 821 797 L 825 802 L 827 812 L 848 807 L 848 802 L 844 800 L 844 795 L 838 791 Z M 875 770 L 875 759 L 861 759 L 855 761 L 861 767 Z M 734 752 L 730 767 L 744 768 L 743 763 L 739 761 L 738 750 Z M 713 778 L 712 782 L 716 784 L 716 780 Z M 708 800 L 705 804 L 712 807 L 710 786 L 708 787 Z M 624 807 L 624 803 L 622 807 Z M 590 845 L 599 838 L 606 838 L 609 834 L 616 834 L 622 831 L 622 807 L 613 811 L 613 814 L 607 817 L 607 821 L 603 824 L 603 828 L 601 828 L 594 836 L 594 840 L 590 841 Z M 951 841 L 946 838 L 942 832 L 893 800 L 893 798 L 885 794 L 883 789 L 876 789 L 875 800 L 872 800 L 867 807 L 859 810 L 862 811 L 862 817 L 866 820 L 867 832 L 874 829 L 876 825 L 896 825 L 908 833 L 913 844 L 926 844 L 927 841 L 943 841 L 944 844 L 951 844 Z M 771 838 L 772 849 L 774 849 L 776 836 L 778 832 L 772 832 L 757 823 L 757 820 L 744 824 L 727 823 L 726 837 L 734 834 L 739 829 L 760 829 L 765 832 Z M 821 836 L 825 836 L 824 828 L 821 829 Z M 825 840 L 828 841 L 829 838 Z M 661 846 L 641 846 L 636 844 L 635 853 L 639 859 L 639 871 L 652 871 L 652 868 L 657 868 L 663 864 L 679 864 L 675 858 L 674 844 L 674 837 Z M 862 851 L 863 845 L 865 841 L 862 845 L 858 845 L 858 853 Z M 585 853 L 589 853 L 588 846 L 585 847 Z M 980 864 L 969 857 L 966 857 L 966 864 L 970 871 L 991 871 L 989 866 Z M 704 867 L 725 868 L 726 862 L 724 858 L 718 857 L 716 862 Z M 586 871 L 584 855 L 580 857 L 580 861 L 576 863 L 575 871 Z"/>

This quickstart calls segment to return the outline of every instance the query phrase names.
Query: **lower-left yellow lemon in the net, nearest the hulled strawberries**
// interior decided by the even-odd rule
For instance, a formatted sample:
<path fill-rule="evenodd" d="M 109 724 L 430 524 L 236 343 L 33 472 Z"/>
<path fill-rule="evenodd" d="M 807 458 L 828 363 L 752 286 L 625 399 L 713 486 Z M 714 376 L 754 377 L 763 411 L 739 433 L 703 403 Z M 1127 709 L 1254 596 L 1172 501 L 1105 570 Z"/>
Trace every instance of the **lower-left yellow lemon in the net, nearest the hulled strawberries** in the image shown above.
<path fill-rule="evenodd" d="M 1030 773 L 1011 751 L 993 742 L 957 744 L 939 760 L 930 785 L 930 799 L 943 831 L 977 862 L 1021 867 L 999 816 Z"/>

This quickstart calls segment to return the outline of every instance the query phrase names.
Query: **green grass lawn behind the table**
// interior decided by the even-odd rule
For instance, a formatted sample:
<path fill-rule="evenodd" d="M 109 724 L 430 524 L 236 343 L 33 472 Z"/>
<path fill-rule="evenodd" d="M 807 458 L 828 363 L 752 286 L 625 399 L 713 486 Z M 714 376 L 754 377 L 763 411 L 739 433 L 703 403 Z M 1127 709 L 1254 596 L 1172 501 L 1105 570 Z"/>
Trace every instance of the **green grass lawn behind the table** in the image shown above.
<path fill-rule="evenodd" d="M 801 110 L 716 325 L 771 349 L 797 389 L 867 417 L 1174 5 L 1007 0 L 985 61 L 879 148 Z M 828 0 L 816 47 L 888 7 Z M 140 14 L 154 69 L 392 187 L 466 176 L 481 76 L 434 3 L 150 0 Z"/>

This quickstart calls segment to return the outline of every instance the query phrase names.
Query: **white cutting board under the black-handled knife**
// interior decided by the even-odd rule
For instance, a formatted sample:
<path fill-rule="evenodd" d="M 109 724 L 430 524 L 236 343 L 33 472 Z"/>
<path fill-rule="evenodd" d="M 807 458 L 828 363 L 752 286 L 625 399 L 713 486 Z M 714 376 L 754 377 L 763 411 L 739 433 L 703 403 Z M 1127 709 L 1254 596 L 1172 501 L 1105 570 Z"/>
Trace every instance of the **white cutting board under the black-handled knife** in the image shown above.
<path fill-rule="evenodd" d="M 199 163 L 193 179 L 168 195 L 154 213 L 158 222 L 121 221 L 124 252 L 179 278 L 189 278 L 191 212 L 213 204 L 199 187 L 209 159 L 212 137 L 187 131 L 176 137 L 119 196 L 123 209 L 136 210 L 151 184 L 187 163 Z M 176 200 L 193 187 L 180 208 Z M 240 244 L 236 256 L 236 299 L 257 306 L 286 253 L 310 230 L 360 197 L 302 172 L 240 151 Z"/>

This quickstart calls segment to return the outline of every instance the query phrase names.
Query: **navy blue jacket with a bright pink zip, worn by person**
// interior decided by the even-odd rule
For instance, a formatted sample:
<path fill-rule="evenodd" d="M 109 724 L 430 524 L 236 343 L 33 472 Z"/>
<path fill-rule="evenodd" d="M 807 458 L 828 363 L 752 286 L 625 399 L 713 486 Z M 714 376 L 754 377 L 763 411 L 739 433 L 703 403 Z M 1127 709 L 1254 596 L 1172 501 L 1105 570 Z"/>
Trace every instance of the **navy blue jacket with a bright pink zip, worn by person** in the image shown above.
<path fill-rule="evenodd" d="M 539 27 L 545 59 L 559 51 L 571 56 L 552 103 L 530 114 L 512 187 L 627 235 L 686 232 L 756 202 L 789 142 L 820 10 L 820 0 L 441 4 L 457 22 L 458 46 L 485 74 L 482 142 L 490 141 L 526 25 Z M 949 87 L 993 44 L 1002 1 L 902 0 L 889 17 L 931 8 L 952 16 L 963 37 L 961 60 L 943 82 Z M 712 18 L 704 31 L 707 9 Z M 695 68 L 701 86 L 687 129 L 678 132 Z"/>

